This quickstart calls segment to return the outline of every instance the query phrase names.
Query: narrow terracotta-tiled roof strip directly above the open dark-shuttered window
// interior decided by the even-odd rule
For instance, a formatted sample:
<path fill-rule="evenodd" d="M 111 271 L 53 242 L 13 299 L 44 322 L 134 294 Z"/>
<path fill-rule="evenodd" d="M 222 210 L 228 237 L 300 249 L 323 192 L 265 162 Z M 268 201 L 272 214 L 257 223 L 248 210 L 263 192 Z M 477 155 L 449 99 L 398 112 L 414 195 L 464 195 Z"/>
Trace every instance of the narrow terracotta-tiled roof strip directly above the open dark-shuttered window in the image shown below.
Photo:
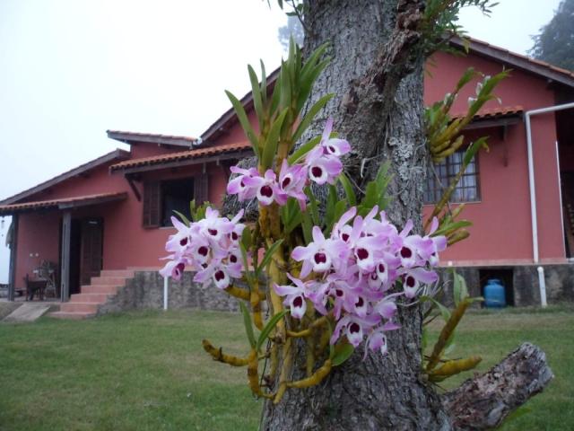
<path fill-rule="evenodd" d="M 182 164 L 204 163 L 212 157 L 220 158 L 223 155 L 226 155 L 227 158 L 241 158 L 251 154 L 251 145 L 247 141 L 237 144 L 213 145 L 178 153 L 126 160 L 125 162 L 112 164 L 109 167 L 109 172 L 121 171 L 128 173 L 134 171 L 151 171 L 153 169 L 165 169 Z M 156 167 L 158 165 L 160 166 Z"/>

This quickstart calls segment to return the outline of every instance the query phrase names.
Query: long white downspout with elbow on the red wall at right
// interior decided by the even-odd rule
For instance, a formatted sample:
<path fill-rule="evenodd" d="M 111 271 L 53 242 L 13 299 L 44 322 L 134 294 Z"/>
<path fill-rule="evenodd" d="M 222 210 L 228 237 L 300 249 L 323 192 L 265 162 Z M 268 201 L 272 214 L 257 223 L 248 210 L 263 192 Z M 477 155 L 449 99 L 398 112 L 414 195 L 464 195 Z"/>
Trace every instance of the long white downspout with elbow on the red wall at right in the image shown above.
<path fill-rule="evenodd" d="M 525 112 L 526 122 L 526 148 L 528 150 L 528 184 L 530 188 L 530 216 L 532 219 L 532 254 L 535 263 L 538 263 L 538 219 L 536 217 L 536 192 L 535 192 L 535 163 L 532 151 L 532 128 L 530 126 L 530 117 L 533 115 L 546 114 L 548 112 L 555 112 L 557 110 L 569 110 L 574 108 L 574 102 L 564 103 L 561 105 L 549 106 L 539 110 L 527 110 Z M 560 167 L 559 167 L 560 178 Z M 560 181 L 558 184 L 560 188 Z M 564 223 L 561 220 L 561 223 Z M 538 286 L 540 288 L 540 303 L 543 307 L 546 306 L 546 284 L 544 281 L 544 268 L 538 267 Z"/>

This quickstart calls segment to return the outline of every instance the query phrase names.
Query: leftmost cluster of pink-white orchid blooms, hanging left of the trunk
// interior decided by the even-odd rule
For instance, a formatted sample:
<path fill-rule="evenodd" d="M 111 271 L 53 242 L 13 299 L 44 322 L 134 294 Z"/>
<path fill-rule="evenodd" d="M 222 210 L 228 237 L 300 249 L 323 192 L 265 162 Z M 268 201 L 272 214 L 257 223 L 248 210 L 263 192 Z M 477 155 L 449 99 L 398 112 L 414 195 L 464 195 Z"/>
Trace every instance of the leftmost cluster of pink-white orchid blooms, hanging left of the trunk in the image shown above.
<path fill-rule="evenodd" d="M 165 250 L 172 253 L 164 258 L 170 261 L 160 270 L 163 277 L 181 279 L 187 267 L 196 271 L 194 281 L 208 286 L 225 289 L 231 278 L 240 278 L 243 273 L 239 239 L 245 228 L 239 220 L 243 210 L 231 220 L 220 217 L 216 209 L 207 207 L 205 218 L 189 226 L 171 217 L 171 223 L 178 230 L 170 235 Z"/>

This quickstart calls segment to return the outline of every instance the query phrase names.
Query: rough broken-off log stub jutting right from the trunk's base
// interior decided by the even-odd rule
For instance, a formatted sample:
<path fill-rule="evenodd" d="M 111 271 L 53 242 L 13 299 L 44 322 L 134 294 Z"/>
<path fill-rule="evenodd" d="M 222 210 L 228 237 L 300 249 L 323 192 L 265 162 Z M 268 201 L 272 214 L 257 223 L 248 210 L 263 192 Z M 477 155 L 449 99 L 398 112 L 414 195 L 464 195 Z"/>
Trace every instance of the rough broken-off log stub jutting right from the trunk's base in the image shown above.
<path fill-rule="evenodd" d="M 553 374 L 544 352 L 524 343 L 491 371 L 448 392 L 443 403 L 457 429 L 498 427 L 509 413 L 543 391 Z"/>

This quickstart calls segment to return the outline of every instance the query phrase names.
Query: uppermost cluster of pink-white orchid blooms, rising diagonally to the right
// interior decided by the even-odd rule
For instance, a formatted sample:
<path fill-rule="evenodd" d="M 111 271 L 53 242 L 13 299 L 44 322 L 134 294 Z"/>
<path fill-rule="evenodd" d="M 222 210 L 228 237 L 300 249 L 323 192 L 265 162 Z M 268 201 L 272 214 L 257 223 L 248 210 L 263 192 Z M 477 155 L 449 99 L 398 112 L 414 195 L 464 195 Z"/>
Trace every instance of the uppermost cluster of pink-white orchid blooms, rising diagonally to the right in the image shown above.
<path fill-rule="evenodd" d="M 230 195 L 238 195 L 239 201 L 257 198 L 263 206 L 273 202 L 283 206 L 291 197 L 297 199 L 304 211 L 307 197 L 303 189 L 308 184 L 308 179 L 319 185 L 335 184 L 336 177 L 343 171 L 340 157 L 351 150 L 351 145 L 344 139 L 330 137 L 332 129 L 333 119 L 328 119 L 319 145 L 306 155 L 304 163 L 290 166 L 283 160 L 278 179 L 271 169 L 261 176 L 255 168 L 231 167 L 231 172 L 239 175 L 230 180 L 227 192 Z"/>

